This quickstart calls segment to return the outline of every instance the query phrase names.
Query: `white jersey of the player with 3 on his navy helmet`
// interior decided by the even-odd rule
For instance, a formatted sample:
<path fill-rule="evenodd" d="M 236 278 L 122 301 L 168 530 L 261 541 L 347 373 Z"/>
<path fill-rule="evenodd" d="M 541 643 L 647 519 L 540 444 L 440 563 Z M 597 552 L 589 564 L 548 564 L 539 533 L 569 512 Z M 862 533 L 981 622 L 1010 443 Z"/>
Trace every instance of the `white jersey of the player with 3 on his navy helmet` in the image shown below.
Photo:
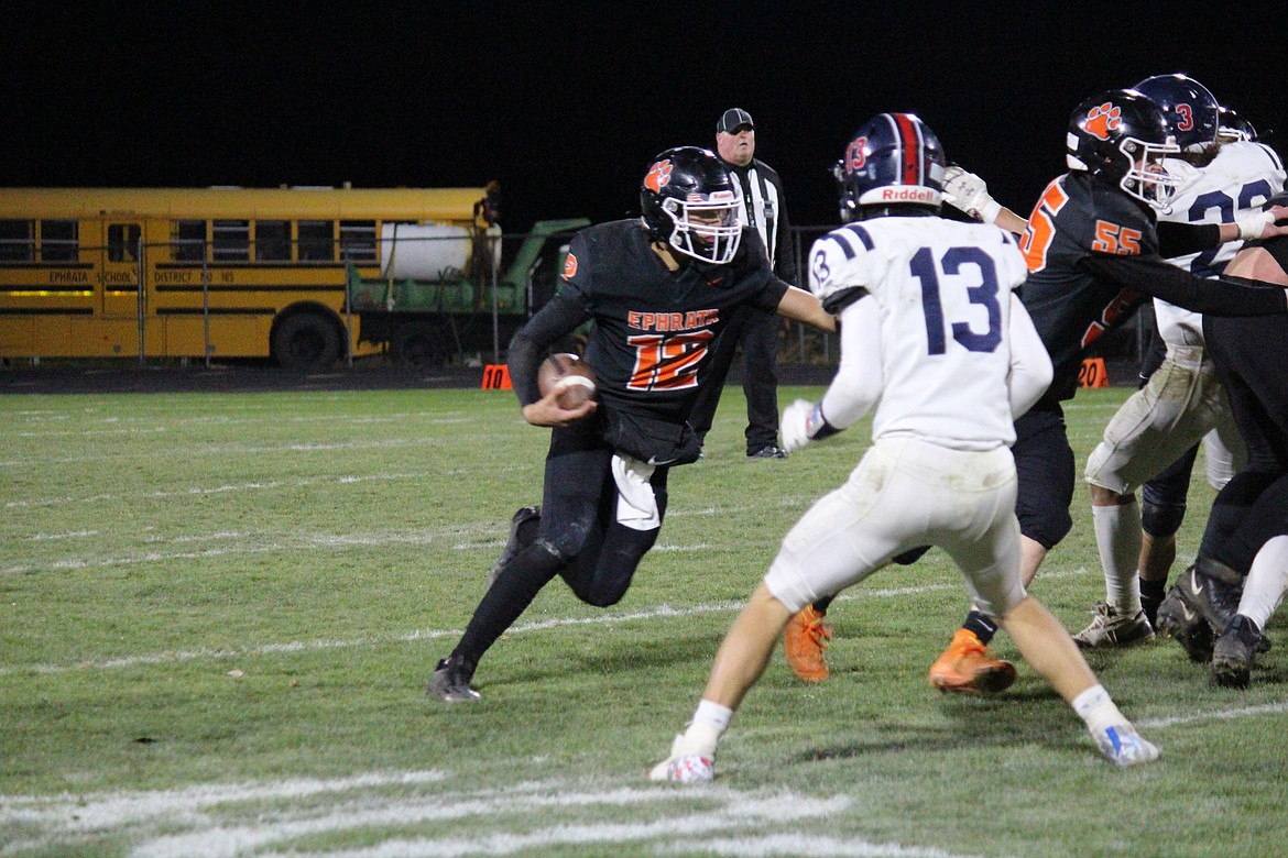
<path fill-rule="evenodd" d="M 1158 219 L 1180 224 L 1231 224 L 1239 215 L 1258 211 L 1270 197 L 1283 190 L 1284 167 L 1279 156 L 1262 143 L 1226 143 L 1206 167 L 1168 158 L 1167 171 L 1181 185 Z M 1195 277 L 1216 277 L 1243 247 L 1226 242 L 1200 253 L 1168 261 Z M 1154 300 L 1154 314 L 1163 341 L 1175 346 L 1203 345 L 1203 315 L 1173 304 Z"/>

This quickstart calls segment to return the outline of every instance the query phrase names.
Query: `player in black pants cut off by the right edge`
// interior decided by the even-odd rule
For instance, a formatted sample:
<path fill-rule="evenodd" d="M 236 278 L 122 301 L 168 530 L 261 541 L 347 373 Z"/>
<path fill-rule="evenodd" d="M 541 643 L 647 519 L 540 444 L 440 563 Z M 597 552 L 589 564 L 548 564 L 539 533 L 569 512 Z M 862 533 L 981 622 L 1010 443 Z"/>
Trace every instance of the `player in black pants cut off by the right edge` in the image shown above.
<path fill-rule="evenodd" d="M 1280 194 L 1283 198 L 1283 194 Z M 1225 277 L 1288 287 L 1288 237 L 1251 242 Z M 1212 680 L 1245 688 L 1262 629 L 1288 590 L 1288 320 L 1204 318 L 1203 334 L 1230 396 L 1248 463 L 1212 503 L 1194 565 L 1158 607 L 1159 632 Z M 1213 634 L 1220 634 L 1213 644 Z"/>

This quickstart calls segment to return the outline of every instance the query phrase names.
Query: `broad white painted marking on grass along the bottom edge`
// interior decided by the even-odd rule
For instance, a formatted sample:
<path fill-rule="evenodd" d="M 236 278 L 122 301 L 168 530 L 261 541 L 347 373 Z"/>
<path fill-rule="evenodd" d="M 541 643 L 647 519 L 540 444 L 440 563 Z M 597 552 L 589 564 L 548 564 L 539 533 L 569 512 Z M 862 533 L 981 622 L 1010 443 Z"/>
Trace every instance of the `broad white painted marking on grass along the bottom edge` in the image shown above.
<path fill-rule="evenodd" d="M 289 780 L 91 795 L 0 796 L 0 827 L 31 831 L 0 855 L 84 846 L 120 837 L 138 858 L 310 854 L 332 858 L 511 855 L 553 846 L 652 845 L 661 854 L 954 858 L 940 849 L 813 834 L 848 810 L 846 795 L 741 791 L 725 786 L 614 786 L 526 782 L 505 790 L 444 790 L 452 773 L 368 773 L 334 781 Z M 254 803 L 251 808 L 246 803 Z M 238 807 L 242 805 L 242 807 Z M 671 808 L 670 805 L 675 805 Z M 653 821 L 603 821 L 604 810 L 643 808 Z M 653 808 L 653 809 L 649 809 Z M 589 816 L 589 818 L 587 818 Z M 440 825 L 451 834 L 379 845 L 309 850 L 309 839 L 375 828 Z M 460 831 L 471 831 L 461 836 Z M 804 849 L 804 852 L 802 852 Z"/>

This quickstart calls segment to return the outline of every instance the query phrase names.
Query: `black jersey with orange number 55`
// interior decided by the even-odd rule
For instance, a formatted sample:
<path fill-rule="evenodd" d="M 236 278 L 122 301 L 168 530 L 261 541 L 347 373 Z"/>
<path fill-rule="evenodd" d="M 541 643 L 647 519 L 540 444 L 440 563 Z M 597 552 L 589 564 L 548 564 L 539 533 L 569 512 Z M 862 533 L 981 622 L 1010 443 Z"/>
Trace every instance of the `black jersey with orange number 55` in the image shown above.
<path fill-rule="evenodd" d="M 1029 268 L 1020 300 L 1055 367 L 1043 401 L 1072 399 L 1092 343 L 1146 297 L 1081 270 L 1078 262 L 1094 253 L 1157 257 L 1154 215 L 1088 174 L 1069 172 L 1047 185 L 1020 247 Z"/>

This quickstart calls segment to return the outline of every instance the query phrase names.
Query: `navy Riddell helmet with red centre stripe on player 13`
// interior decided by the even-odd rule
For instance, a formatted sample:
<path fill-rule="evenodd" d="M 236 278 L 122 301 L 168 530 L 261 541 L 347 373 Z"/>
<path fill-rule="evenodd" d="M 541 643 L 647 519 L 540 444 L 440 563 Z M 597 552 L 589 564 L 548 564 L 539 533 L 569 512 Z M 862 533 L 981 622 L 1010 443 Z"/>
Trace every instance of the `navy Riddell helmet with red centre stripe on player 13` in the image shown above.
<path fill-rule="evenodd" d="M 914 113 L 881 113 L 850 138 L 833 167 L 841 221 L 884 214 L 890 206 L 938 210 L 944 190 L 944 149 Z"/>

